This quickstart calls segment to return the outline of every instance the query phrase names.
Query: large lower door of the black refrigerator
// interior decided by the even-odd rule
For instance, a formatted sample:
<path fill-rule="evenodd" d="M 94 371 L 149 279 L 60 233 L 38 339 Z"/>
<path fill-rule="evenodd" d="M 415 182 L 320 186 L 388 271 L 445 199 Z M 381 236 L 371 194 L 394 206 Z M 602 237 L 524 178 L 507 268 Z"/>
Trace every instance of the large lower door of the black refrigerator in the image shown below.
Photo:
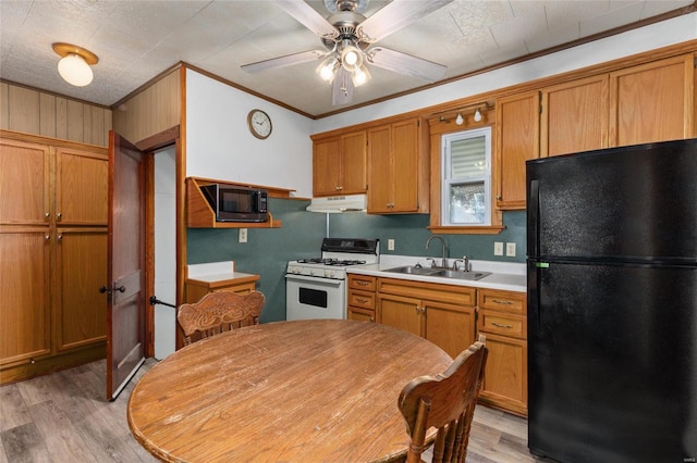
<path fill-rule="evenodd" d="M 528 263 L 528 446 L 565 462 L 697 456 L 697 268 Z"/>

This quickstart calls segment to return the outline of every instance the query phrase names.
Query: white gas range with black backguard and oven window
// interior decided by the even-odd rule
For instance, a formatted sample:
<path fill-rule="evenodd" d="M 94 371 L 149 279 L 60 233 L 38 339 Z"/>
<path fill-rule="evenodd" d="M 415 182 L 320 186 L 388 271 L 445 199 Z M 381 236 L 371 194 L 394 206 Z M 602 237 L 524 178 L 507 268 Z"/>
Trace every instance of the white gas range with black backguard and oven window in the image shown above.
<path fill-rule="evenodd" d="M 285 318 L 345 318 L 346 268 L 380 261 L 378 239 L 325 238 L 321 258 L 288 263 Z"/>

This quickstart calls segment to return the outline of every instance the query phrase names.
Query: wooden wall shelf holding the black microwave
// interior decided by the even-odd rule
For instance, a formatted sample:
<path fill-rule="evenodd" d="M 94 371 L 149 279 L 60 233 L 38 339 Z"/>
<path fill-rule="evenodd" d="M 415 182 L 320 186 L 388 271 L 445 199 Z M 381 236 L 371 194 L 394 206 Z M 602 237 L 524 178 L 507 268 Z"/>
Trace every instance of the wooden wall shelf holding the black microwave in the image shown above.
<path fill-rule="evenodd" d="M 186 226 L 189 228 L 281 228 L 281 221 L 273 220 L 273 215 L 269 212 L 269 220 L 264 223 L 256 222 L 217 222 L 216 213 L 212 208 L 204 197 L 200 187 L 210 185 L 210 184 L 224 184 L 224 185 L 234 185 L 234 186 L 245 186 L 249 187 L 249 185 L 241 185 L 234 184 L 230 182 L 218 182 L 206 178 L 196 178 L 188 177 L 186 178 Z M 257 187 L 255 185 L 255 187 Z M 265 188 L 266 187 L 261 187 Z M 271 197 L 283 197 L 282 195 L 278 195 L 279 191 L 291 190 L 281 190 L 276 189 L 276 193 L 271 195 L 269 191 L 269 196 Z"/>

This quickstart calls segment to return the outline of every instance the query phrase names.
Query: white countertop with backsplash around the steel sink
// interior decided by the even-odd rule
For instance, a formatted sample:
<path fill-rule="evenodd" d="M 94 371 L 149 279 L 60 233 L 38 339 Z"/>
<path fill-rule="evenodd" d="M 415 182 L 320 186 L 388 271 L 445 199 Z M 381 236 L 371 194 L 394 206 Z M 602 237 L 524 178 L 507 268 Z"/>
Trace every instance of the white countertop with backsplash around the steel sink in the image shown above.
<path fill-rule="evenodd" d="M 409 279 L 412 281 L 468 286 L 472 288 L 489 288 L 501 289 L 504 291 L 527 292 L 526 265 L 523 263 L 469 261 L 473 271 L 491 272 L 491 275 L 477 280 L 384 272 L 387 268 L 393 268 L 402 265 L 416 265 L 417 263 L 420 263 L 424 267 L 428 267 L 430 266 L 430 262 L 428 262 L 426 259 L 427 258 L 419 258 L 414 255 L 382 254 L 380 255 L 380 263 L 363 265 L 358 267 L 347 267 L 346 273 L 356 275 L 379 276 L 383 278 Z M 449 266 L 452 266 L 452 263 L 453 260 L 450 259 L 448 261 Z"/>

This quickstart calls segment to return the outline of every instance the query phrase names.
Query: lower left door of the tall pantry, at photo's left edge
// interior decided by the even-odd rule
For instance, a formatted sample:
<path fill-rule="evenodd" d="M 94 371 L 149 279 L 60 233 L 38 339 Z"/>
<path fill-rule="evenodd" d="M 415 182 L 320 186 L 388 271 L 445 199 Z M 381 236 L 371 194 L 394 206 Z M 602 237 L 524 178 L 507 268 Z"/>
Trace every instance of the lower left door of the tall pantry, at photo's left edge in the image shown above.
<path fill-rule="evenodd" d="M 51 353 L 50 236 L 0 226 L 0 365 Z"/>

